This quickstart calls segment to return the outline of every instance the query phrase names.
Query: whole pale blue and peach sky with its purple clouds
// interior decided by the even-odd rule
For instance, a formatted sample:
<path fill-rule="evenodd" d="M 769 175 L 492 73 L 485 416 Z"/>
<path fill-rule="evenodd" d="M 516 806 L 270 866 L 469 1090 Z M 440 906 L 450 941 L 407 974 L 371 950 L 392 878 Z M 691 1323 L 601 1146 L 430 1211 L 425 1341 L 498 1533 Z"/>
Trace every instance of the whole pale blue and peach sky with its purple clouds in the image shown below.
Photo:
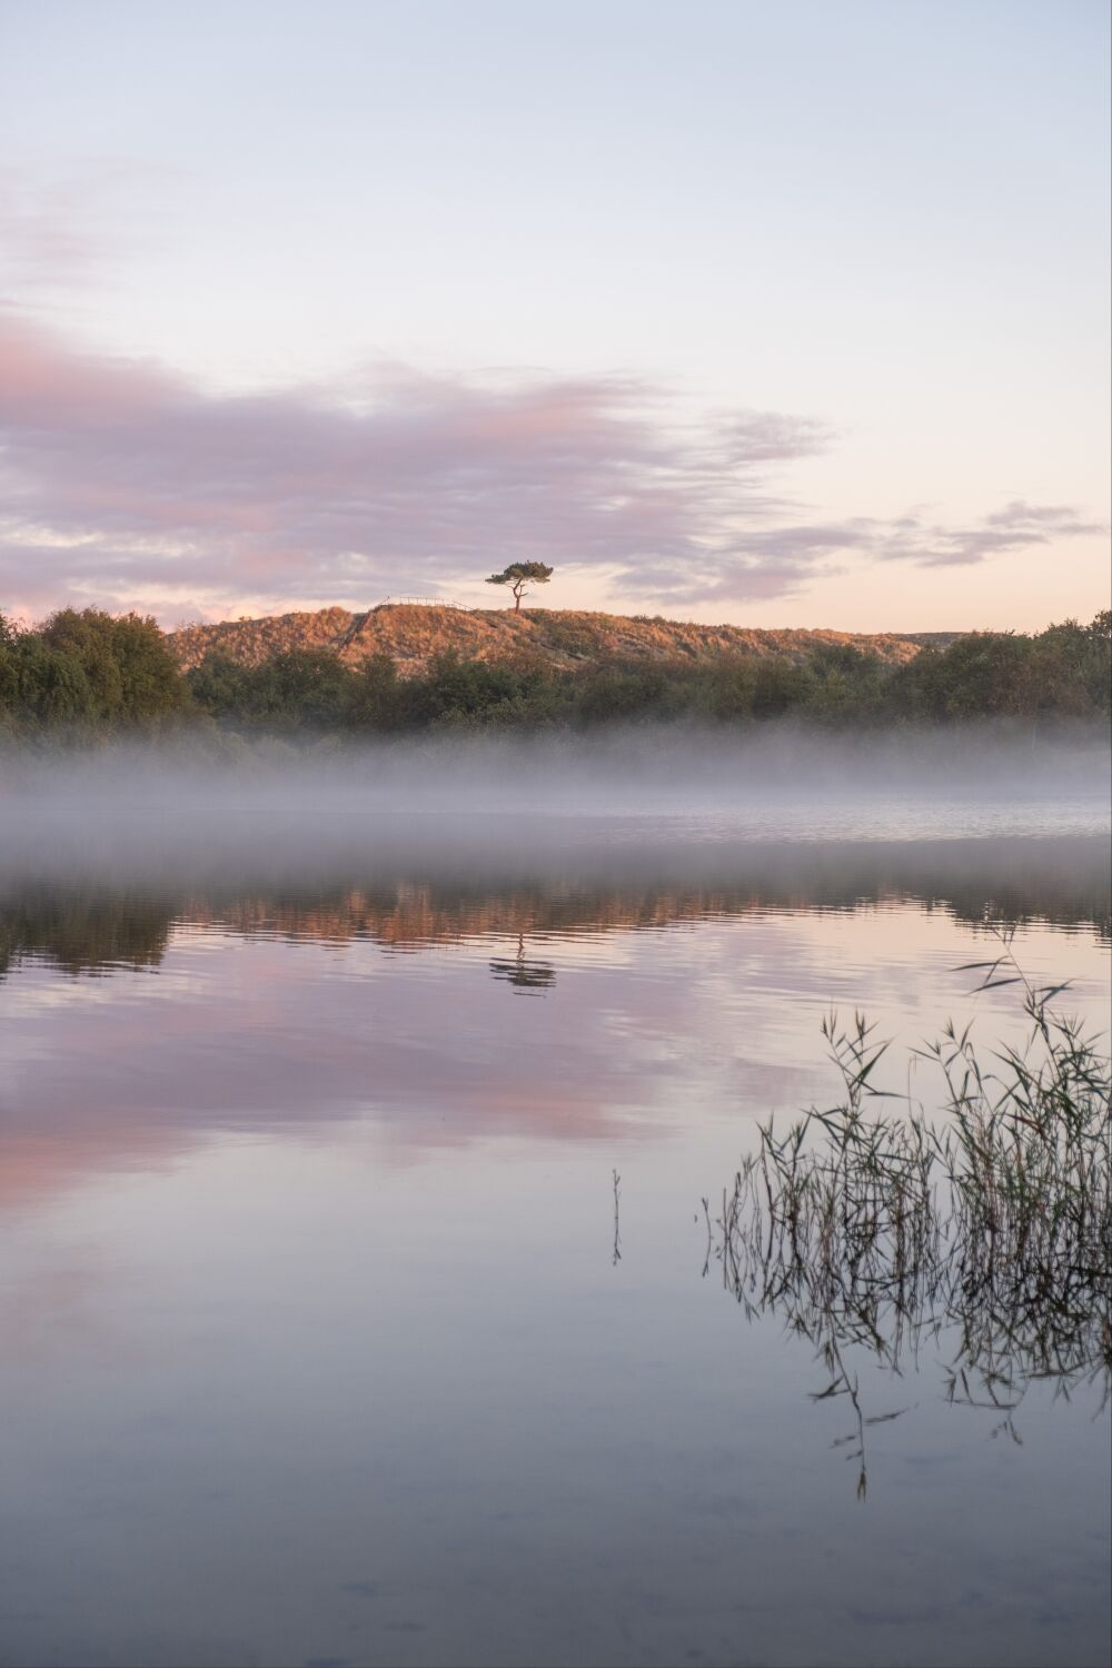
<path fill-rule="evenodd" d="M 0 612 L 1109 605 L 1104 0 L 0 0 Z"/>

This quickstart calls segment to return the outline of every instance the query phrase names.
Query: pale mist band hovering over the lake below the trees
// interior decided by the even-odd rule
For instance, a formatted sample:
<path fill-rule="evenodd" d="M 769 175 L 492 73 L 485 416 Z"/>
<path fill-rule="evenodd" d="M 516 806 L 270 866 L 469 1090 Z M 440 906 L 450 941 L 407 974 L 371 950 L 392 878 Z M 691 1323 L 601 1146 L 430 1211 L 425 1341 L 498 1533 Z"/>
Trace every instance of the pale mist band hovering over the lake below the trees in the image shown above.
<path fill-rule="evenodd" d="M 970 726 L 864 737 L 767 726 L 293 747 L 202 737 L 8 752 L 5 867 L 277 866 L 415 849 L 473 872 L 617 844 L 954 839 L 1107 827 L 1107 736 Z M 518 819 L 528 817 L 523 827 Z M 592 819 L 609 819 L 602 836 Z M 625 819 L 625 826 L 620 821 Z"/>

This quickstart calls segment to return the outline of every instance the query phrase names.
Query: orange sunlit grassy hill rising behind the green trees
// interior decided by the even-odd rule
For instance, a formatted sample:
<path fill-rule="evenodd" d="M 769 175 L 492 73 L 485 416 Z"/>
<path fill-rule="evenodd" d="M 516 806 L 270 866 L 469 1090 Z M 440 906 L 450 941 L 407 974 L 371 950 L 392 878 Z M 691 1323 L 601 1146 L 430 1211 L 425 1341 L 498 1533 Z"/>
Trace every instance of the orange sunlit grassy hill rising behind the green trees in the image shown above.
<path fill-rule="evenodd" d="M 925 644 L 945 647 L 957 632 L 757 631 L 749 626 L 695 626 L 685 620 L 567 609 L 458 609 L 440 604 L 383 602 L 365 614 L 320 609 L 220 626 L 185 626 L 168 642 L 183 671 L 220 651 L 258 666 L 290 649 L 330 649 L 358 666 L 388 654 L 403 676 L 422 672 L 428 659 L 455 649 L 468 661 L 513 661 L 527 656 L 557 671 L 599 661 L 712 661 L 724 654 L 777 656 L 805 661 L 824 644 L 852 644 L 884 661 L 912 661 Z"/>

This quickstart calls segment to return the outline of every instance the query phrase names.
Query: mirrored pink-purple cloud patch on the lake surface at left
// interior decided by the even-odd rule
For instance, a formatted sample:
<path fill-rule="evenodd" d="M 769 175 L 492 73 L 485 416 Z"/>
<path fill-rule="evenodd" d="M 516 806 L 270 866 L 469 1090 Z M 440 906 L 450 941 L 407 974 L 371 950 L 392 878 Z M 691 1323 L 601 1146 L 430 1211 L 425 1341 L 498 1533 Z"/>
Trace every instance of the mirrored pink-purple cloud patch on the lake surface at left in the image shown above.
<path fill-rule="evenodd" d="M 225 937 L 198 984 L 190 954 L 185 932 L 153 1001 L 145 981 L 120 974 L 103 986 L 117 1004 L 23 1012 L 0 1109 L 8 1199 L 37 1178 L 145 1163 L 207 1129 L 368 1116 L 418 1146 L 452 1146 L 498 1133 L 594 1138 L 642 1113 L 630 1073 L 599 1058 L 587 1032 L 572 1056 L 559 1026 L 533 1024 L 525 1048 L 520 1024 L 507 1034 L 490 1011 L 497 991 L 470 966 L 452 977 L 423 957 L 387 966 L 370 946 L 338 964 L 318 946 L 292 954 Z"/>

